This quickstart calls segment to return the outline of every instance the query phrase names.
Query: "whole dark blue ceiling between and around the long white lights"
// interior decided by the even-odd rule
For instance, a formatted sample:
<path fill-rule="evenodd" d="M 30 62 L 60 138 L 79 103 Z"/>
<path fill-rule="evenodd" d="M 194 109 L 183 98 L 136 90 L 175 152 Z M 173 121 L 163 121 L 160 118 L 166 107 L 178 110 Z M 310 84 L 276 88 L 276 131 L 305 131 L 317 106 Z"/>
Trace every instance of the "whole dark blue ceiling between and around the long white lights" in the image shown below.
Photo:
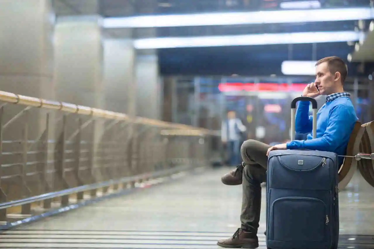
<path fill-rule="evenodd" d="M 70 3 L 73 0 L 59 0 Z M 258 11 L 280 9 L 279 4 L 287 0 L 100 0 L 99 14 L 104 17 L 137 15 L 162 15 L 175 13 L 208 13 L 233 11 Z M 297 1 L 297 0 L 291 0 Z M 323 8 L 369 7 L 370 0 L 319 0 Z M 372 3 L 373 4 L 373 3 Z M 76 11 L 78 12 L 78 11 Z M 366 21 L 366 27 L 371 20 Z M 183 37 L 205 35 L 241 35 L 261 33 L 308 32 L 308 31 L 353 31 L 358 21 L 312 22 L 293 24 L 228 25 L 204 27 L 163 27 L 155 32 L 134 29 L 133 37 Z M 121 31 L 117 29 L 116 37 Z M 312 57 L 312 44 L 295 44 L 289 57 L 288 45 L 202 47 L 159 49 L 159 67 L 164 75 L 281 75 L 283 60 L 312 60 L 336 55 L 347 62 L 347 55 L 354 50 L 346 42 L 318 43 L 316 56 Z M 374 64 L 367 63 L 364 70 L 357 70 L 358 63 L 348 63 L 349 74 L 368 75 Z"/>

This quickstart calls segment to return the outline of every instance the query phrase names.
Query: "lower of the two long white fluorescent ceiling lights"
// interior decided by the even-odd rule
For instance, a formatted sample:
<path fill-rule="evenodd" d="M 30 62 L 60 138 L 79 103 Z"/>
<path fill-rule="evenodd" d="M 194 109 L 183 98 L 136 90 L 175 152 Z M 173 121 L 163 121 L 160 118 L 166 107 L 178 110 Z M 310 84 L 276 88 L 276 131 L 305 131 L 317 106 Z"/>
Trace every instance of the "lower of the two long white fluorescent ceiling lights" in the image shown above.
<path fill-rule="evenodd" d="M 167 49 L 177 47 L 220 47 L 269 44 L 327 43 L 358 41 L 359 32 L 298 32 L 278 34 L 224 35 L 198 37 L 161 37 L 134 40 L 135 49 Z"/>

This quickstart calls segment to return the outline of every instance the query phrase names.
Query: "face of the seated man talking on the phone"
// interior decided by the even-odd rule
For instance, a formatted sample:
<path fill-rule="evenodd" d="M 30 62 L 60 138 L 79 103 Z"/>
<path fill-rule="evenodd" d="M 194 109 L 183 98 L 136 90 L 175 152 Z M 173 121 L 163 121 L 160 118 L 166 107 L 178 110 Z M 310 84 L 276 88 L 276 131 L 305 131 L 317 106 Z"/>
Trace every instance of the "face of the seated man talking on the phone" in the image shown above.
<path fill-rule="evenodd" d="M 338 74 L 338 72 L 331 74 L 327 62 L 323 62 L 316 66 L 315 83 L 322 95 L 329 95 L 334 92 L 334 88 L 340 78 L 340 75 Z"/>

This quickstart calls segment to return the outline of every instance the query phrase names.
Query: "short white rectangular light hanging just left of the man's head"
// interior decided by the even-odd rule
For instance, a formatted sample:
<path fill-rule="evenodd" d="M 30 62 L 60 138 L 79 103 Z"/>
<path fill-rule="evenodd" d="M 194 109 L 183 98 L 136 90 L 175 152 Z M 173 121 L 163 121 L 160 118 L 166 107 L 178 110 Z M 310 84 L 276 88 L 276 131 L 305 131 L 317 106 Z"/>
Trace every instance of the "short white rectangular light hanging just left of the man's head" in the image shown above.
<path fill-rule="evenodd" d="M 285 60 L 282 62 L 282 74 L 284 75 L 315 75 L 316 61 Z"/>

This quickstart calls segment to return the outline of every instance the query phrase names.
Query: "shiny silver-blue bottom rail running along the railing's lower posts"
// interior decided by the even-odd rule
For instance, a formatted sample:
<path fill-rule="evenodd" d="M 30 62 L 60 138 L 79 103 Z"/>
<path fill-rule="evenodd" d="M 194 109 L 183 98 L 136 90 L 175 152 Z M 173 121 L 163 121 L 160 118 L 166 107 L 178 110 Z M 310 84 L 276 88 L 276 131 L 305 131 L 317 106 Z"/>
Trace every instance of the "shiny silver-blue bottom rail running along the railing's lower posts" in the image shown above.
<path fill-rule="evenodd" d="M 175 167 L 175 168 L 171 168 L 171 169 L 163 169 L 163 170 L 156 171 L 156 172 L 153 172 L 153 173 L 135 175 L 135 176 L 131 176 L 131 177 L 123 177 L 123 178 L 120 178 L 118 180 L 103 181 L 103 182 L 99 182 L 99 183 L 93 183 L 93 184 L 83 185 L 83 186 L 79 186 L 79 187 L 74 187 L 74 188 L 71 188 L 71 189 L 64 189 L 64 190 L 60 190 L 60 191 L 56 191 L 56 192 L 40 194 L 38 196 L 31 196 L 31 197 L 28 197 L 28 198 L 25 198 L 25 199 L 12 200 L 10 202 L 0 203 L 0 209 L 12 208 L 12 207 L 15 207 L 15 206 L 21 206 L 21 205 L 25 205 L 25 204 L 29 204 L 29 203 L 33 203 L 33 202 L 39 202 L 39 201 L 46 200 L 46 199 L 52 199 L 52 198 L 55 198 L 55 197 L 65 196 L 65 195 L 68 195 L 68 194 L 74 194 L 74 193 L 78 193 L 78 192 L 85 192 L 85 191 L 89 191 L 89 190 L 93 190 L 93 189 L 99 189 L 99 188 L 102 188 L 102 187 L 108 187 L 108 186 L 115 185 L 115 184 L 137 181 L 137 180 L 144 179 L 146 177 L 153 177 L 153 178 L 154 177 L 160 177 L 162 175 L 168 175 L 168 174 L 173 174 L 175 172 L 181 172 L 181 171 L 186 170 L 188 168 L 190 168 L 190 166 L 179 166 L 179 167 Z"/>

